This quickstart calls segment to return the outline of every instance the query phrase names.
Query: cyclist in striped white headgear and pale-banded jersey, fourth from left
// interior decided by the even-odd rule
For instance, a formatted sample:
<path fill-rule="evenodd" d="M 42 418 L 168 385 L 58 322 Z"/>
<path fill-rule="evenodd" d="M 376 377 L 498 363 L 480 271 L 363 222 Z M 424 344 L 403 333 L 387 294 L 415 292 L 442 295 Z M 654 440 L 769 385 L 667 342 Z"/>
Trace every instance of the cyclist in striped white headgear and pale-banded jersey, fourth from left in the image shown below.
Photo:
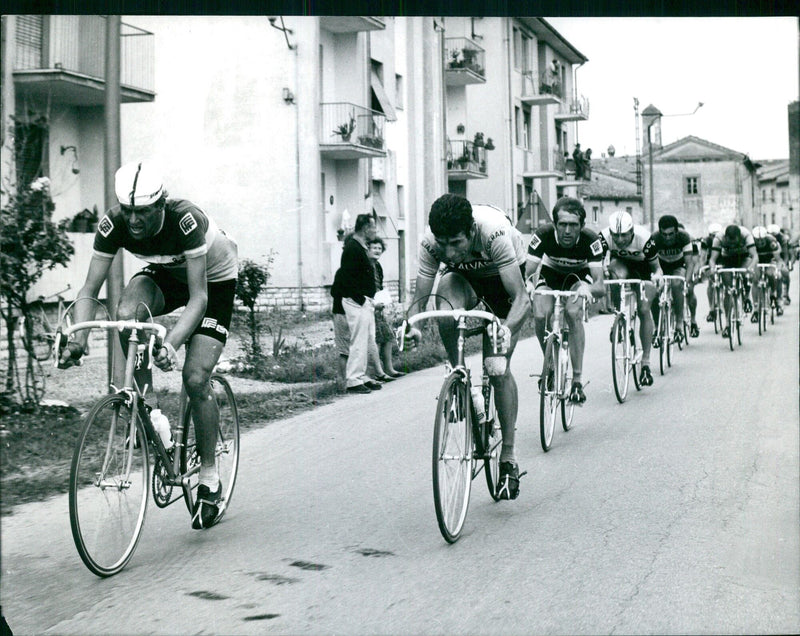
<path fill-rule="evenodd" d="M 639 382 L 642 386 L 653 384 L 650 373 L 650 349 L 653 343 L 652 305 L 656 297 L 656 286 L 661 283 L 661 266 L 658 263 L 658 252 L 650 232 L 641 225 L 633 224 L 633 217 L 619 210 L 611 214 L 608 227 L 601 236 L 608 245 L 606 270 L 608 277 L 636 278 L 644 286 L 644 299 L 636 295 L 636 311 L 639 314 L 639 336 L 642 341 L 642 371 Z M 611 288 L 614 305 L 619 307 L 620 290 L 615 285 Z"/>

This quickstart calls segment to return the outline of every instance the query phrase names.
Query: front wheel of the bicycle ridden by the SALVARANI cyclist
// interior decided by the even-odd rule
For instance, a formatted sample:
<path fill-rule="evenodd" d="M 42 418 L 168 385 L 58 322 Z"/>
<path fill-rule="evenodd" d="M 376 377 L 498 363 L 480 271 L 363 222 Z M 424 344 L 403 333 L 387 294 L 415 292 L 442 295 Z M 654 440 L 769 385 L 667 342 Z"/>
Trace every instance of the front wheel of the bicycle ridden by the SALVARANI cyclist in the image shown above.
<path fill-rule="evenodd" d="M 461 535 L 472 486 L 472 415 L 470 396 L 457 372 L 444 381 L 433 425 L 433 504 L 444 540 Z"/>

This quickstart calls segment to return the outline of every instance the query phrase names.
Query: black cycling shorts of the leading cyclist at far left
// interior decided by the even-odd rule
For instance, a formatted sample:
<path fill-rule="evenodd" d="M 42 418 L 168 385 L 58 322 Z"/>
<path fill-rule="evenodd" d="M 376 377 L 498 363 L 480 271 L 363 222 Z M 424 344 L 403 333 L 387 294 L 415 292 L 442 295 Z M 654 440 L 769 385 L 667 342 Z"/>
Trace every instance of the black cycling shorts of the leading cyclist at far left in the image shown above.
<path fill-rule="evenodd" d="M 160 315 L 171 313 L 189 302 L 189 285 L 179 281 L 161 268 L 148 266 L 134 276 L 147 276 L 161 290 L 164 295 L 164 310 Z M 231 326 L 236 279 L 206 283 L 206 285 L 208 285 L 206 313 L 192 332 L 192 336 L 196 334 L 209 336 L 225 344 L 228 339 L 228 329 Z"/>

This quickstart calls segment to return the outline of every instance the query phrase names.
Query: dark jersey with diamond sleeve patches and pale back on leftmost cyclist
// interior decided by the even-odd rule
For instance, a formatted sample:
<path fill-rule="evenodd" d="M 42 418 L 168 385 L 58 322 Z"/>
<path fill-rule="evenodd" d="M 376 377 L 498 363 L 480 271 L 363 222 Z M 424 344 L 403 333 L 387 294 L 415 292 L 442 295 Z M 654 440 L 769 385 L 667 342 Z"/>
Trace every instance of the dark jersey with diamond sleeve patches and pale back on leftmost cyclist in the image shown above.
<path fill-rule="evenodd" d="M 184 199 L 168 199 L 161 229 L 143 240 L 130 235 L 120 208 L 112 208 L 97 224 L 94 253 L 111 260 L 120 248 L 183 282 L 186 282 L 186 259 L 203 254 L 208 282 L 238 276 L 236 243 L 211 217 Z"/>

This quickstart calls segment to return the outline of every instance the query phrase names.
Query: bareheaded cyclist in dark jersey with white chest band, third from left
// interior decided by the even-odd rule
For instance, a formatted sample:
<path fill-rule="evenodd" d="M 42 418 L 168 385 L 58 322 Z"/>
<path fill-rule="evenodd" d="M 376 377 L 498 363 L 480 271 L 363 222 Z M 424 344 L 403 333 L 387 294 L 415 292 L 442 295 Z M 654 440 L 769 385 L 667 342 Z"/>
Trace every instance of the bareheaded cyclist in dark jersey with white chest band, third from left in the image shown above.
<path fill-rule="evenodd" d="M 603 256 L 606 247 L 603 239 L 584 226 L 586 210 L 572 197 L 562 197 L 553 208 L 553 223 L 538 228 L 528 245 L 525 278 L 533 277 L 531 286 L 536 289 L 569 289 L 578 293 L 567 303 L 567 323 L 570 327 L 569 354 L 572 360 L 572 387 L 569 400 L 583 404 L 581 373 L 586 335 L 580 309 L 581 298 L 603 298 Z M 533 299 L 533 321 L 536 337 L 544 352 L 547 316 L 553 313 L 552 296 Z"/>

